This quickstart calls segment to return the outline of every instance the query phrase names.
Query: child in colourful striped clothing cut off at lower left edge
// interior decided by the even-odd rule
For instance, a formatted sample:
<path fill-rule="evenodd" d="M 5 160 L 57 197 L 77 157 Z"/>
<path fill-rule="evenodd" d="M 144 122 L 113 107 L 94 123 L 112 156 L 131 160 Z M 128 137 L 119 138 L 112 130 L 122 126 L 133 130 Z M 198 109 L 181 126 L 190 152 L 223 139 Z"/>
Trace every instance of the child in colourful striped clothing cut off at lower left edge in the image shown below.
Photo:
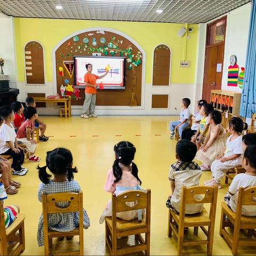
<path fill-rule="evenodd" d="M 4 185 L 0 182 L 0 201 L 7 198 Z M 9 227 L 11 223 L 15 220 L 17 214 L 20 212 L 19 205 L 9 205 L 4 206 L 4 225 L 5 228 Z"/>

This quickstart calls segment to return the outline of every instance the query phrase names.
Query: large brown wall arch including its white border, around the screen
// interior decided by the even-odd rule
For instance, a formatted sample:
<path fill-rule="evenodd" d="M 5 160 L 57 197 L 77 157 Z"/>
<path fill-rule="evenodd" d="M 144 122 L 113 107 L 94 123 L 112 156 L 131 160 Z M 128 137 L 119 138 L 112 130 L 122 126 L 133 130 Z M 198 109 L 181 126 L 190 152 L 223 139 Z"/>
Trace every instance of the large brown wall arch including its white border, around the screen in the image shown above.
<path fill-rule="evenodd" d="M 108 43 L 109 38 L 113 38 L 115 44 L 119 44 L 120 49 L 128 49 L 132 48 L 132 54 L 129 52 L 126 55 L 126 89 L 125 90 L 102 90 L 97 91 L 97 105 L 98 106 L 141 106 L 142 102 L 142 93 L 143 87 L 145 84 L 145 57 L 146 53 L 143 51 L 142 47 L 135 42 L 130 36 L 122 33 L 121 31 L 110 29 L 110 28 L 88 28 L 79 30 L 76 33 L 73 33 L 62 39 L 60 43 L 58 43 L 52 52 L 53 57 L 53 85 L 54 92 L 60 93 L 60 86 L 63 84 L 63 79 L 59 75 L 59 67 L 61 66 L 61 62 L 65 60 L 73 60 L 72 55 L 92 55 L 92 52 L 84 49 L 86 45 L 86 40 L 83 41 L 84 38 L 89 38 L 92 42 L 92 38 L 95 38 L 97 45 L 94 48 L 99 47 L 99 45 L 103 46 L 103 43 L 100 42 L 101 37 L 106 37 L 106 43 Z M 103 41 L 102 41 L 103 42 Z M 122 42 L 122 44 L 121 44 Z M 70 46 L 70 47 L 69 47 Z M 73 48 L 71 48 L 73 46 Z M 78 47 L 79 46 L 79 47 Z M 89 45 L 87 45 L 89 46 Z M 91 46 L 91 45 L 90 45 Z M 115 50 L 115 49 L 113 49 Z M 72 51 L 72 52 L 70 52 Z M 75 51 L 75 52 L 74 52 Z M 139 52 L 139 53 L 138 53 Z M 75 54 L 74 54 L 75 53 Z M 119 53 L 115 56 L 119 56 Z M 104 55 L 103 52 L 101 52 Z M 108 51 L 108 54 L 110 52 Z M 136 58 L 139 56 L 139 60 Z M 111 55 L 110 55 L 111 56 Z M 127 58 L 132 58 L 132 62 L 127 62 Z M 59 58 L 61 57 L 61 58 Z M 66 58 L 65 58 L 66 57 Z M 138 62 L 137 62 L 138 60 Z M 131 65 L 132 63 L 132 65 Z M 65 69 L 63 69 L 65 71 Z M 70 79 L 71 84 L 74 84 L 74 76 Z M 63 84 L 66 85 L 66 84 Z M 80 90 L 80 97 L 82 99 L 73 99 L 73 105 L 82 105 L 84 90 Z"/>

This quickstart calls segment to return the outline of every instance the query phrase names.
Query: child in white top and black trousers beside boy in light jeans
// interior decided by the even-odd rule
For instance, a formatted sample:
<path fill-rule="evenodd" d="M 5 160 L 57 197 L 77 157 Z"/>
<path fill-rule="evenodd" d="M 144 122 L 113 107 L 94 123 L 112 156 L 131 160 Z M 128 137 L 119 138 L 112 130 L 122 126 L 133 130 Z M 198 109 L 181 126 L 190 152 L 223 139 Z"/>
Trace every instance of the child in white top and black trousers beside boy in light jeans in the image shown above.
<path fill-rule="evenodd" d="M 206 100 L 197 101 L 197 111 L 192 116 L 192 120 L 194 121 L 194 123 L 191 126 L 191 128 L 188 128 L 182 131 L 182 135 L 181 135 L 182 140 L 191 140 L 191 137 L 196 134 L 197 129 L 200 126 L 200 121 L 202 119 L 202 116 L 200 115 L 200 109 L 206 103 L 207 103 Z"/>

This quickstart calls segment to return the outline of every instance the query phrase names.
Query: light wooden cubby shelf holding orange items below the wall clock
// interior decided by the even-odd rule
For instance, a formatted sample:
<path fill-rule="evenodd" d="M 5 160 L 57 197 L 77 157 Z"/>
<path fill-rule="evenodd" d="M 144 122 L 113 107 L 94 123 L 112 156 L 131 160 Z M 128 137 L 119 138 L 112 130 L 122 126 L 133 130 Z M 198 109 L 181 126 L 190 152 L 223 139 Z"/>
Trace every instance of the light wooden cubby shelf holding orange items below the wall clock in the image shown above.
<path fill-rule="evenodd" d="M 217 98 L 217 102 L 215 101 Z M 241 102 L 241 93 L 232 92 L 226 90 L 212 90 L 211 91 L 211 102 L 213 101 L 214 110 L 220 111 L 222 116 L 222 126 L 227 130 L 228 122 L 233 116 L 239 116 L 240 102 Z M 231 109 L 231 102 L 233 101 L 233 107 Z M 225 102 L 222 104 L 222 102 Z M 227 109 L 222 110 L 224 106 L 228 106 Z M 227 115 L 228 113 L 228 115 Z M 227 116 L 227 117 L 226 117 Z"/>

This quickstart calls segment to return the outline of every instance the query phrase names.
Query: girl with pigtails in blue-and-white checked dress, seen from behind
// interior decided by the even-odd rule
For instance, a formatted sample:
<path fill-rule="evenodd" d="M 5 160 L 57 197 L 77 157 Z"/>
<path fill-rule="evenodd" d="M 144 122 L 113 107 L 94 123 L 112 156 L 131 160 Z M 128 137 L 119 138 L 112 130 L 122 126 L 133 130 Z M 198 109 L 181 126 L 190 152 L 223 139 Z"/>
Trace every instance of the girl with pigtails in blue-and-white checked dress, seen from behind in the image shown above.
<path fill-rule="evenodd" d="M 37 193 L 39 202 L 42 202 L 43 194 L 78 193 L 81 188 L 78 182 L 74 180 L 74 173 L 77 172 L 77 169 L 73 167 L 73 156 L 71 152 L 66 148 L 55 148 L 46 154 L 46 165 L 44 167 L 37 166 L 39 179 L 42 181 Z M 52 175 L 46 172 L 46 168 L 53 174 L 52 179 L 49 179 Z M 65 208 L 68 205 L 68 202 L 60 202 L 58 204 L 61 208 Z M 89 228 L 90 220 L 84 209 L 83 213 L 84 228 Z M 50 230 L 67 232 L 73 231 L 79 226 L 78 212 L 49 213 L 47 218 L 48 229 Z M 72 238 L 67 237 L 67 239 Z M 39 246 L 44 244 L 43 214 L 41 214 L 38 223 L 37 242 Z"/>

